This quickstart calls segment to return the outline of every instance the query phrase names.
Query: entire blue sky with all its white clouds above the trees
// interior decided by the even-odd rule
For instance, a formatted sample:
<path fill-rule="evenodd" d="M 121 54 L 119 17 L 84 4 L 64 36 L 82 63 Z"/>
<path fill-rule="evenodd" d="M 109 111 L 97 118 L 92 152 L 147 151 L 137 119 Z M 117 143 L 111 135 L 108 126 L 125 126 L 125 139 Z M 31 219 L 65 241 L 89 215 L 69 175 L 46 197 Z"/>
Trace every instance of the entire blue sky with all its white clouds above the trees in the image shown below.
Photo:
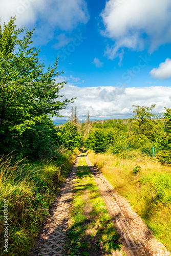
<path fill-rule="evenodd" d="M 46 67 L 59 56 L 56 81 L 76 97 L 79 119 L 132 116 L 132 105 L 171 108 L 170 0 L 1 0 L 1 23 L 36 27 Z"/>

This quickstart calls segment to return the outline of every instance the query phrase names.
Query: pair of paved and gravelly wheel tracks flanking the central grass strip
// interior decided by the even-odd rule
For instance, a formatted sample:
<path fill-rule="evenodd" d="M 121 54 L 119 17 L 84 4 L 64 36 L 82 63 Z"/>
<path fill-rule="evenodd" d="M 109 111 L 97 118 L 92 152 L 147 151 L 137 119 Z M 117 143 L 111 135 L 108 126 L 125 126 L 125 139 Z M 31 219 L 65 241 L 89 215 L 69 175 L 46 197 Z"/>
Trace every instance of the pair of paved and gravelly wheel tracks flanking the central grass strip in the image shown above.
<path fill-rule="evenodd" d="M 77 157 L 70 177 L 66 180 L 67 184 L 63 189 L 53 215 L 49 219 L 46 240 L 38 255 L 68 255 L 65 253 L 63 254 L 63 245 L 65 244 L 68 229 L 69 213 L 76 178 L 75 175 L 80 157 L 81 156 Z M 112 250 L 111 254 L 116 256 L 170 255 L 170 252 L 166 250 L 163 244 L 154 238 L 140 217 L 138 217 L 138 215 L 131 209 L 129 203 L 115 193 L 112 185 L 105 179 L 99 170 L 91 164 L 88 157 L 82 157 L 86 158 L 86 163 L 91 170 L 91 174 L 98 186 L 101 197 L 105 202 L 106 208 L 109 211 L 114 227 L 117 230 L 122 243 L 122 251 Z"/>

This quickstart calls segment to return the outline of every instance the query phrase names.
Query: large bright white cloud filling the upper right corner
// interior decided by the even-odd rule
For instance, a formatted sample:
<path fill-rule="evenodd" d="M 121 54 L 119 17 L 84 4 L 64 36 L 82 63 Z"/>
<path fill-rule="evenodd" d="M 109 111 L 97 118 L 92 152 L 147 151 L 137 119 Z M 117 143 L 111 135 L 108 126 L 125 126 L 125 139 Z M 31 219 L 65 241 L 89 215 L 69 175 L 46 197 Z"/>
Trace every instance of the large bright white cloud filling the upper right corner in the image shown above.
<path fill-rule="evenodd" d="M 103 36 L 115 41 L 105 54 L 114 59 L 120 49 L 153 52 L 171 42 L 170 0 L 109 0 L 101 13 L 105 26 Z"/>

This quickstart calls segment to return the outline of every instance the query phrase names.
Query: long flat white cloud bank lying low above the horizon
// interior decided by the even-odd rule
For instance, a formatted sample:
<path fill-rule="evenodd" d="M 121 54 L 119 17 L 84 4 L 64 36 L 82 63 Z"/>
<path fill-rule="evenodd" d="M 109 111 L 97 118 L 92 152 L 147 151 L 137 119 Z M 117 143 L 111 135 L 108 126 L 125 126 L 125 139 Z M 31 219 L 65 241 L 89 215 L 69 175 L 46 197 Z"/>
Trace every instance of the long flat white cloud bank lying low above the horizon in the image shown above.
<path fill-rule="evenodd" d="M 59 78 L 58 78 L 59 79 Z M 69 116 L 72 106 L 77 105 L 79 119 L 86 119 L 90 112 L 92 119 L 129 118 L 133 116 L 132 105 L 151 106 L 156 104 L 155 113 L 164 112 L 164 106 L 171 108 L 171 88 L 146 87 L 76 87 L 67 83 L 60 92 L 65 98 L 77 97 L 62 115 Z M 170 98 L 169 98 L 170 97 Z"/>

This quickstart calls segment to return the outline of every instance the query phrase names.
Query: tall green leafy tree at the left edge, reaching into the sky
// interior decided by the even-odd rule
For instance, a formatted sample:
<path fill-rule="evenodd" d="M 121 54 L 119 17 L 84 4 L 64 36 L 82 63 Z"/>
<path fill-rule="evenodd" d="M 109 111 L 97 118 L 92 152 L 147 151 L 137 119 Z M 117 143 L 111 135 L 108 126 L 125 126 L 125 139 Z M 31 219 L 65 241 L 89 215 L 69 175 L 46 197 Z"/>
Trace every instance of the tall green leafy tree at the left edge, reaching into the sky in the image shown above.
<path fill-rule="evenodd" d="M 3 28 L 0 26 L 0 154 L 23 150 L 27 155 L 26 148 L 35 147 L 30 136 L 36 140 L 39 135 L 36 151 L 41 138 L 47 141 L 45 130 L 49 142 L 54 142 L 55 127 L 49 117 L 61 116 L 59 111 L 73 99 L 58 99 L 66 83 L 56 83 L 56 76 L 63 73 L 57 72 L 58 59 L 45 72 L 38 57 L 40 49 L 31 47 L 34 30 L 16 29 L 14 22 L 11 18 Z M 21 33 L 25 33 L 23 39 Z"/>

